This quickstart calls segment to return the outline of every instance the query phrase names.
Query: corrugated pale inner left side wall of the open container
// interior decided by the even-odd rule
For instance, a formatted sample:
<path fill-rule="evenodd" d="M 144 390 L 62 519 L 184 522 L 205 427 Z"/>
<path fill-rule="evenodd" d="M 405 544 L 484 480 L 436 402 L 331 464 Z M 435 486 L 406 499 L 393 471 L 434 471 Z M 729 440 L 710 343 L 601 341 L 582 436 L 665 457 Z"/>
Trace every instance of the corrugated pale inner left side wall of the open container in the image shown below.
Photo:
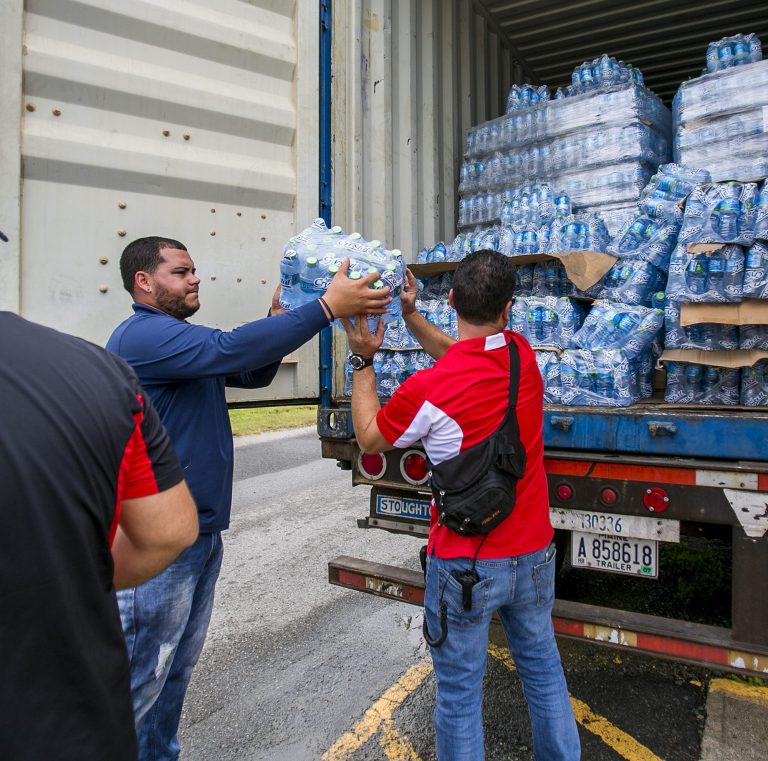
<path fill-rule="evenodd" d="M 412 262 L 453 239 L 464 134 L 504 112 L 524 73 L 472 0 L 334 0 L 333 10 L 333 221 Z"/>

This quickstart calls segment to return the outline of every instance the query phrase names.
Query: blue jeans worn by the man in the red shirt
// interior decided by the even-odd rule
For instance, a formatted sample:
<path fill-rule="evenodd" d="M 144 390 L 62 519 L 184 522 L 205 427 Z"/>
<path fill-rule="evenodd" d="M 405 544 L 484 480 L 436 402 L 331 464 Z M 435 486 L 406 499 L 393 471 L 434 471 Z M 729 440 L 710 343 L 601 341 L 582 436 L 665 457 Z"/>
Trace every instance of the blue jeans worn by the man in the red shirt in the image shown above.
<path fill-rule="evenodd" d="M 431 648 L 435 668 L 435 734 L 439 761 L 483 761 L 483 675 L 488 627 L 498 611 L 528 703 L 537 761 L 578 761 L 579 735 L 552 626 L 555 558 L 528 555 L 478 560 L 472 607 L 465 611 L 454 574 L 467 558 L 428 558 L 424 607 L 432 639 L 447 605 L 448 636 Z"/>

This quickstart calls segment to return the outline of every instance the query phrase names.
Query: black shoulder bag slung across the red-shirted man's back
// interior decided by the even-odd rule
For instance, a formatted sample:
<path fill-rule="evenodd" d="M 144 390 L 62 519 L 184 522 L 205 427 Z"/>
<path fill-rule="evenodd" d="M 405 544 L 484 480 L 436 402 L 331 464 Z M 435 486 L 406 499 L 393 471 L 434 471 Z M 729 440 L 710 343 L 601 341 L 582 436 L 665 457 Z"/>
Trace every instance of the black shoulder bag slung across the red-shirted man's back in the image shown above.
<path fill-rule="evenodd" d="M 501 425 L 487 439 L 439 465 L 431 465 L 438 525 L 464 536 L 488 534 L 515 506 L 517 481 L 525 472 L 525 448 L 517 424 L 520 354 L 509 342 L 509 402 Z"/>

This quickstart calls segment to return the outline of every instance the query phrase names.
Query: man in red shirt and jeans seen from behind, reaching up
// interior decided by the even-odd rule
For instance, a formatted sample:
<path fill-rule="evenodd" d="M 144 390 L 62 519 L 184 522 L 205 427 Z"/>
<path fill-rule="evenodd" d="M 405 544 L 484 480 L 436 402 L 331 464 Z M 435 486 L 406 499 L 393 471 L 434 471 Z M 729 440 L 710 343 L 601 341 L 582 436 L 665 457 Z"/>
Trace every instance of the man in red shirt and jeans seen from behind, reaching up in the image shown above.
<path fill-rule="evenodd" d="M 489 534 L 462 536 L 430 521 L 425 615 L 437 681 L 435 731 L 439 761 L 482 761 L 482 686 L 491 616 L 498 612 L 523 683 L 539 761 L 576 761 L 579 737 L 552 627 L 554 546 L 544 472 L 543 383 L 536 357 L 518 333 L 505 330 L 515 282 L 514 265 L 498 252 L 478 251 L 456 269 L 448 299 L 456 309 L 459 340 L 415 311 L 416 281 L 408 273 L 403 316 L 434 367 L 408 378 L 381 408 L 372 359 L 384 330 L 367 321 L 345 324 L 353 355 L 352 420 L 361 449 L 382 452 L 421 441 L 433 465 L 490 436 L 509 399 L 509 350 L 520 357 L 517 420 L 526 466 L 512 513 Z M 471 607 L 459 579 L 473 571 Z"/>

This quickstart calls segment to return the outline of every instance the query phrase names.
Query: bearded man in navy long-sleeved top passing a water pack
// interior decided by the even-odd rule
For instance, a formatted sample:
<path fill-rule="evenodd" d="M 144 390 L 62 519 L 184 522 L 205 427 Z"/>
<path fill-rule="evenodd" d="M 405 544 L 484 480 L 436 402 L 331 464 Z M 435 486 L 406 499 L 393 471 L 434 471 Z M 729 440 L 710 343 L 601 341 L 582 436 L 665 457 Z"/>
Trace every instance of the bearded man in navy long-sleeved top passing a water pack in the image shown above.
<path fill-rule="evenodd" d="M 176 732 L 189 679 L 205 641 L 229 526 L 233 444 L 225 387 L 269 385 L 281 359 L 334 317 L 381 314 L 388 289 L 346 277 L 345 260 L 322 299 L 221 331 L 186 322 L 200 307 L 200 278 L 184 244 L 140 238 L 120 259 L 134 314 L 107 348 L 133 366 L 157 409 L 197 503 L 200 536 L 146 584 L 118 594 L 131 660 L 131 691 L 141 761 L 175 761 Z"/>

